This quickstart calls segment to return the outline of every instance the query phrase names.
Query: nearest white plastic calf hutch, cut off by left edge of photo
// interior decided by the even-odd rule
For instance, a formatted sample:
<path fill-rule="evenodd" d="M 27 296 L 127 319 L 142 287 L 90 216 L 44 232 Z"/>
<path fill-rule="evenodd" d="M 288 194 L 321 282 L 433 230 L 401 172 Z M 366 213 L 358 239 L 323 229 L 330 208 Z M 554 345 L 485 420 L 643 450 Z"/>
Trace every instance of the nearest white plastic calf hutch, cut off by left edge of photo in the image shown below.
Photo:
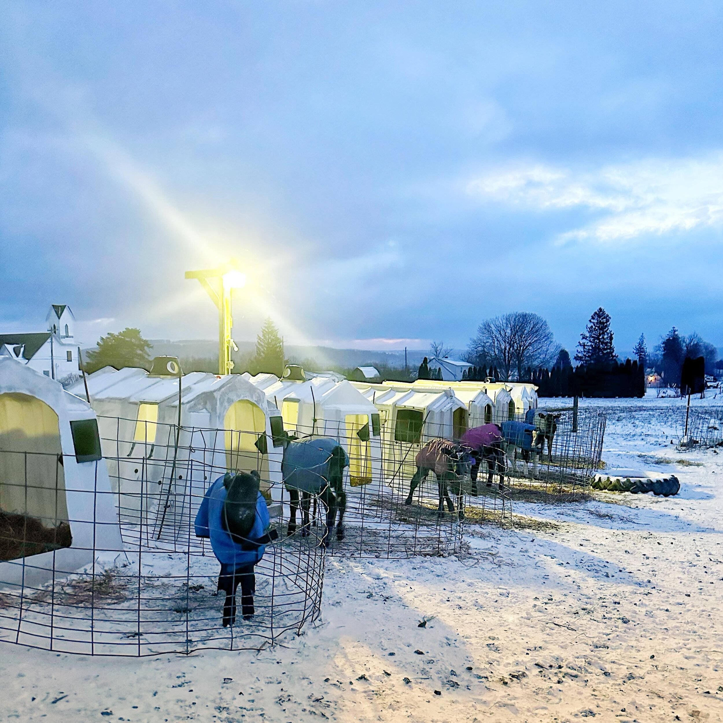
<path fill-rule="evenodd" d="M 95 413 L 10 358 L 0 358 L 0 520 L 11 593 L 123 549 Z"/>

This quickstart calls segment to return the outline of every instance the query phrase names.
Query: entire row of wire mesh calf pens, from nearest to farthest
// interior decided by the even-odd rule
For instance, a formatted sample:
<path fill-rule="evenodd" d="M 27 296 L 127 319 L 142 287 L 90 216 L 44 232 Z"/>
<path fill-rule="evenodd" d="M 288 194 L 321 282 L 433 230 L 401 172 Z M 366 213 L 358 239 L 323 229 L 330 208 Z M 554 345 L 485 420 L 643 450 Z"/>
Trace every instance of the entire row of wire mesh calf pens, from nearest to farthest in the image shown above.
<path fill-rule="evenodd" d="M 520 461 L 508 459 L 500 489 L 497 476 L 487 487 L 483 464 L 476 495 L 469 470 L 440 480 L 430 473 L 410 494 L 416 455 L 441 428 L 425 423 L 400 434 L 388 421 L 379 429 L 340 424 L 330 432 L 327 425 L 325 436 L 348 454 L 342 534 L 328 527 L 318 494 L 307 497 L 308 523 L 298 510 L 298 525 L 289 529 L 283 455 L 262 443 L 265 435 L 156 422 L 139 427 L 137 419 L 102 416 L 98 427 L 100 461 L 0 450 L 4 641 L 91 655 L 260 649 L 320 615 L 326 555 L 452 555 L 461 549 L 465 523 L 510 524 L 515 496 L 589 489 L 605 416 L 581 412 L 575 424 L 571 411 L 561 411 L 552 448 L 546 444 L 536 465 L 531 461 L 525 473 Z M 302 438 L 307 431 L 315 430 L 295 430 Z M 64 465 L 76 461 L 92 467 L 93 484 L 80 488 L 65 479 Z M 219 564 L 208 539 L 195 536 L 194 520 L 210 485 L 228 470 L 260 474 L 278 539 L 255 568 L 253 618 L 239 616 L 224 628 Z"/>

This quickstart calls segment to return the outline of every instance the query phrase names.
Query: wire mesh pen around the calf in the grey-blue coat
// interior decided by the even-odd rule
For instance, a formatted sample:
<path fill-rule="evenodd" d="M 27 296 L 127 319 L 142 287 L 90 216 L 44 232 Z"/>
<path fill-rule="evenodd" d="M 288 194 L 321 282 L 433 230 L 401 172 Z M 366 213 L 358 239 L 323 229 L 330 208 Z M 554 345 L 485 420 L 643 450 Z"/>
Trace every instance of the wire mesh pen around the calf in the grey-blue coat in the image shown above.
<path fill-rule="evenodd" d="M 286 452 L 269 453 L 267 445 L 258 443 L 259 435 L 185 426 L 178 431 L 174 425 L 160 423 L 154 423 L 150 432 L 139 433 L 134 420 L 114 417 L 99 417 L 98 424 L 108 450 L 108 472 L 118 492 L 121 521 L 137 525 L 145 536 L 168 543 L 179 540 L 182 547 L 205 489 L 214 475 L 226 469 L 260 473 L 271 516 L 278 529 L 289 534 L 288 525 L 296 513 L 291 505 L 294 487 L 285 484 L 282 470 Z M 289 443 L 293 445 L 294 438 L 335 440 L 347 457 L 338 505 L 341 534 L 315 529 L 325 537 L 328 555 L 403 558 L 458 551 L 462 540 L 458 505 L 453 513 L 437 515 L 439 487 L 434 479 L 420 484 L 413 503 L 406 504 L 407 481 L 386 474 L 394 469 L 397 458 L 392 463 L 385 459 L 382 430 L 375 435 L 377 430 L 369 429 L 367 417 L 326 424 L 324 435 L 315 431 L 297 425 Z M 146 435 L 153 437 L 152 445 Z M 406 450 L 393 450 L 405 460 L 413 452 L 409 445 Z M 323 484 L 317 484 L 316 496 L 309 501 L 315 520 L 326 513 L 318 497 Z"/>

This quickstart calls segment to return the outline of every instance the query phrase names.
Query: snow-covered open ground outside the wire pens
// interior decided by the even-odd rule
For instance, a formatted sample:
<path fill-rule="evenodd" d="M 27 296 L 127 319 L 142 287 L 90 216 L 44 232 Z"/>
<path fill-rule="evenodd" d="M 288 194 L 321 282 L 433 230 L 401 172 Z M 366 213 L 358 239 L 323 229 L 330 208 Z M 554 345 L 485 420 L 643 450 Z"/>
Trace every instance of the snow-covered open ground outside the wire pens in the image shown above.
<path fill-rule="evenodd" d="M 680 495 L 515 502 L 517 529 L 468 527 L 458 557 L 330 557 L 320 622 L 260 653 L 4 643 L 0 719 L 721 720 L 723 450 L 671 445 L 681 400 L 587 404 L 607 408 L 609 468 L 672 472 Z"/>

